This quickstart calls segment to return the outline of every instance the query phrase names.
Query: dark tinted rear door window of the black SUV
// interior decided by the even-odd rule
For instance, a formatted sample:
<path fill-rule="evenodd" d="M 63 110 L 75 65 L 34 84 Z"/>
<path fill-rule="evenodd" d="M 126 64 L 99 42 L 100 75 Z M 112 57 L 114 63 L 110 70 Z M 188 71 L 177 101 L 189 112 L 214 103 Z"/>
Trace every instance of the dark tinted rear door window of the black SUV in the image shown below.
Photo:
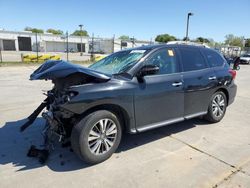
<path fill-rule="evenodd" d="M 194 71 L 207 68 L 207 63 L 197 49 L 180 48 L 184 71 Z"/>

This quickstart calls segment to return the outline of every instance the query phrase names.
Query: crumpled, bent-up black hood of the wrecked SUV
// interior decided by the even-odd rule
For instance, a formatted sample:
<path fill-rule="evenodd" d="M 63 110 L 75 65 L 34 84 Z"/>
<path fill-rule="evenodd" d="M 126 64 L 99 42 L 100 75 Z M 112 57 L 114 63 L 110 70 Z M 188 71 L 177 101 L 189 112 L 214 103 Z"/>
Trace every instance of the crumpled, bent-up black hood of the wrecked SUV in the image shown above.
<path fill-rule="evenodd" d="M 31 75 L 30 80 L 54 80 L 63 78 L 73 73 L 82 73 L 103 80 L 109 80 L 110 76 L 63 60 L 49 60 L 43 63 Z"/>

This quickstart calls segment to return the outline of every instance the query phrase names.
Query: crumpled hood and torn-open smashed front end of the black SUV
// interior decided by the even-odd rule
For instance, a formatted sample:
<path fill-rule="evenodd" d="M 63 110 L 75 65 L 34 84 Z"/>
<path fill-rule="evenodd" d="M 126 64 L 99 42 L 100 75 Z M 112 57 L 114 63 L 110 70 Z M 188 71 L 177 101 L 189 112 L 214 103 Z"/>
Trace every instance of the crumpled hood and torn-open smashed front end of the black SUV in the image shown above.
<path fill-rule="evenodd" d="M 32 145 L 27 156 L 38 157 L 41 163 L 45 163 L 49 153 L 54 150 L 55 141 L 61 142 L 63 147 L 70 146 L 72 128 L 81 116 L 81 114 L 75 114 L 69 109 L 63 108 L 79 94 L 71 87 L 106 82 L 110 77 L 66 61 L 47 61 L 30 76 L 30 80 L 41 79 L 52 80 L 54 87 L 45 93 L 46 99 L 27 118 L 28 121 L 20 127 L 20 131 L 22 132 L 32 125 L 42 112 L 42 117 L 45 119 L 42 131 L 43 148 L 37 149 Z"/>

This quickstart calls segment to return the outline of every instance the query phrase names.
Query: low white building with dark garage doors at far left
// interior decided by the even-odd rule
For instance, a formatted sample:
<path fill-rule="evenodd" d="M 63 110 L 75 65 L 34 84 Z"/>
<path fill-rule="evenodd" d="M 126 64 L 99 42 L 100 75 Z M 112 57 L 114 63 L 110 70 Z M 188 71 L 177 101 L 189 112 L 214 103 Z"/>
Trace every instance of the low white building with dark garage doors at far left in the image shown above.
<path fill-rule="evenodd" d="M 69 36 L 69 51 L 88 52 L 89 37 Z M 37 34 L 38 50 L 40 52 L 64 52 L 67 49 L 65 35 Z M 36 34 L 31 32 L 16 32 L 0 30 L 0 48 L 5 51 L 36 51 Z"/>

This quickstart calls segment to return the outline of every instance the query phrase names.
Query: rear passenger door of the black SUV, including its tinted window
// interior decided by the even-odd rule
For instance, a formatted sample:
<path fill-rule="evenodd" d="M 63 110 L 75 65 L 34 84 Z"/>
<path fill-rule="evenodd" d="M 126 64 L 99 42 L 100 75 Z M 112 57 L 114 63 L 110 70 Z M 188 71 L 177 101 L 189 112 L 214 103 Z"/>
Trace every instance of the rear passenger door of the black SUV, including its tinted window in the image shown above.
<path fill-rule="evenodd" d="M 184 116 L 205 114 L 210 97 L 217 85 L 214 70 L 196 47 L 180 47 L 184 80 Z"/>

